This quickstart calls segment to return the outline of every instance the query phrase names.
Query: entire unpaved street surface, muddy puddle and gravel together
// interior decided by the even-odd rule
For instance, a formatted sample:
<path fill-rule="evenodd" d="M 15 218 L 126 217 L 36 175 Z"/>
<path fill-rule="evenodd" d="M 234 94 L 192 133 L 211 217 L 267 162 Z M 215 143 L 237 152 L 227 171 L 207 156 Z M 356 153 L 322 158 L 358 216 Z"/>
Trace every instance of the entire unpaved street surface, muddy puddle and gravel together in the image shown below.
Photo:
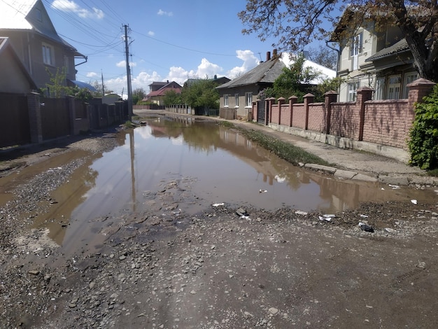
<path fill-rule="evenodd" d="M 0 179 L 2 328 L 435 328 L 436 192 L 144 120 Z"/>

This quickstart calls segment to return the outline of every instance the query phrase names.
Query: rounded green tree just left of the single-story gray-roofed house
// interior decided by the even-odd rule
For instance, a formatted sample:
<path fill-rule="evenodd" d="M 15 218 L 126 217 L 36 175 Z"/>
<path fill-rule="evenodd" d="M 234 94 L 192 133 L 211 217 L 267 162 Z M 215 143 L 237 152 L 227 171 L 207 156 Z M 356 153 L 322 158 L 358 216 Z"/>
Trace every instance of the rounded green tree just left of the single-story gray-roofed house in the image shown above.
<path fill-rule="evenodd" d="M 193 83 L 185 83 L 181 90 L 183 102 L 193 108 L 202 108 L 204 113 L 209 109 L 219 108 L 219 92 L 216 90 L 217 84 L 209 79 L 195 80 Z"/>

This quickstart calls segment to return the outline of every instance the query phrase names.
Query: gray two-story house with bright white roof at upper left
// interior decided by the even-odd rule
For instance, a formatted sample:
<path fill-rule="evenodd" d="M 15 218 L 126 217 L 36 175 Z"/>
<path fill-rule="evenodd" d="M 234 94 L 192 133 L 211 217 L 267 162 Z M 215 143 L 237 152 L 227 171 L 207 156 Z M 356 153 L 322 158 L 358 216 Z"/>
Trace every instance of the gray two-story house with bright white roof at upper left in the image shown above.
<path fill-rule="evenodd" d="M 75 59 L 87 60 L 57 34 L 41 0 L 0 1 L 0 36 L 8 38 L 38 88 L 50 83 L 47 70 L 55 76 L 65 69 L 65 84 L 74 83 Z"/>

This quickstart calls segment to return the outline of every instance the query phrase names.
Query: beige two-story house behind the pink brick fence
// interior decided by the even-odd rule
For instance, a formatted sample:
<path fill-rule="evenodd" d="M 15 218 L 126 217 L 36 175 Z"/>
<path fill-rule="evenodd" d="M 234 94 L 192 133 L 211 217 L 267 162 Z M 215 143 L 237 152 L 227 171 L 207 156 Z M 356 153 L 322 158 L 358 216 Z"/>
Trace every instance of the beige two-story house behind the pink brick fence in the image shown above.
<path fill-rule="evenodd" d="M 376 31 L 375 23 L 368 20 L 355 30 L 352 39 L 339 38 L 349 8 L 334 30 L 332 39 L 339 43 L 338 76 L 345 79 L 339 90 L 339 102 L 353 102 L 359 87 L 375 90 L 374 99 L 407 98 L 407 84 L 418 78 L 407 41 L 399 27 L 391 25 Z"/>

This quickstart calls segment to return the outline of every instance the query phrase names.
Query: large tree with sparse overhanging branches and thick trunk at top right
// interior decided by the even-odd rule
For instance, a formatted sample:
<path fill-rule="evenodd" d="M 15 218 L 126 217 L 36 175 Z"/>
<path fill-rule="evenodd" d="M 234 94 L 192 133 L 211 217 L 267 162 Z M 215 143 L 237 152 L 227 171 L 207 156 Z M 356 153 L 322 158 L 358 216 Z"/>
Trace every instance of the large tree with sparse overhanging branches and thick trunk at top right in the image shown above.
<path fill-rule="evenodd" d="M 397 25 L 404 34 L 422 78 L 438 81 L 438 3 L 436 0 L 247 0 L 238 13 L 246 29 L 262 41 L 278 38 L 278 50 L 301 51 L 314 40 L 329 40 L 335 26 L 337 40 L 351 40 L 360 26 L 376 30 Z M 339 21 L 336 10 L 345 11 Z M 325 24 L 331 23 L 332 26 Z M 339 23 L 339 24 L 338 24 Z M 327 27 L 326 27 L 327 26 Z"/>

